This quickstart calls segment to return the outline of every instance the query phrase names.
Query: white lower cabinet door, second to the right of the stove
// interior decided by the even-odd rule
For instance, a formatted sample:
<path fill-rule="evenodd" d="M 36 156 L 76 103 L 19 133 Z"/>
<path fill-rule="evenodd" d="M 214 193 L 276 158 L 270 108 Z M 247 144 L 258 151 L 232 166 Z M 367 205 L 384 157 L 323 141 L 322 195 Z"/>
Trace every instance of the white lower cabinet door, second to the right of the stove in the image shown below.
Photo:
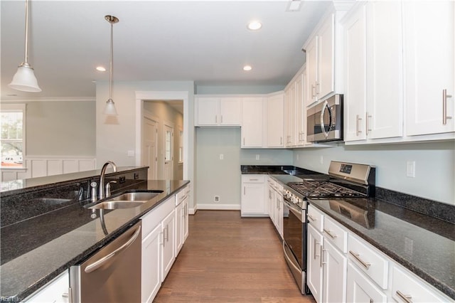
<path fill-rule="evenodd" d="M 325 238 L 323 247 L 323 302 L 346 302 L 347 258 Z"/>

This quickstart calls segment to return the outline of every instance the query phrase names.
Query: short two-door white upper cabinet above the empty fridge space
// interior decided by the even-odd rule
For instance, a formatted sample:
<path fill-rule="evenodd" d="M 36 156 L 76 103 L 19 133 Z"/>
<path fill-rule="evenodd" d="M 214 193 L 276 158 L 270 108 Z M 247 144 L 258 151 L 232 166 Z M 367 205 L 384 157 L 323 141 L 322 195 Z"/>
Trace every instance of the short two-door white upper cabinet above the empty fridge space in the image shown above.
<path fill-rule="evenodd" d="M 196 126 L 240 126 L 240 97 L 196 97 Z"/>

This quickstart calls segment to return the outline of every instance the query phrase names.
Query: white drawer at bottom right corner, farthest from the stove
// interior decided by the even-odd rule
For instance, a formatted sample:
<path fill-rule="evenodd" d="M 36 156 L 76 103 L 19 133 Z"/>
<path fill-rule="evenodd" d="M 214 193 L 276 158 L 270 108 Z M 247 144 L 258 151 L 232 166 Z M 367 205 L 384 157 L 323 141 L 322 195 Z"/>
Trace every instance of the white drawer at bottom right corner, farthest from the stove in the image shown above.
<path fill-rule="evenodd" d="M 449 302 L 449 299 L 439 297 L 435 292 L 419 281 L 418 277 L 399 269 L 396 265 L 392 267 L 392 297 L 397 302 Z"/>

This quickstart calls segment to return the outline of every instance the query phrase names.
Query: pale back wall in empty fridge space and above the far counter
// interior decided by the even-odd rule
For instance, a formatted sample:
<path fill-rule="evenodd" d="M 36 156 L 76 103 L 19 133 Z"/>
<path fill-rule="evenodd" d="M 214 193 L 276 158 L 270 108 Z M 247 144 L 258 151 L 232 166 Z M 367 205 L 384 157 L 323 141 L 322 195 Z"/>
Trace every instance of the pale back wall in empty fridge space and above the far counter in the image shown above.
<path fill-rule="evenodd" d="M 198 209 L 240 209 L 240 165 L 292 162 L 292 151 L 240 149 L 240 138 L 240 127 L 196 127 Z M 220 154 L 223 154 L 223 160 Z M 214 196 L 220 196 L 220 202 L 215 203 Z"/>

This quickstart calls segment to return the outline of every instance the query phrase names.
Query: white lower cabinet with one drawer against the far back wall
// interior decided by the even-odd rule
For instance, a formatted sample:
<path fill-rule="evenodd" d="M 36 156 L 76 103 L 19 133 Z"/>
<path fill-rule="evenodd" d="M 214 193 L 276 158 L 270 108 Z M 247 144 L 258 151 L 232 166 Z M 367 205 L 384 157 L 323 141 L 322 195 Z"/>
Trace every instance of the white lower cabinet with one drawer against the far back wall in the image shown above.
<path fill-rule="evenodd" d="M 242 217 L 268 215 L 265 204 L 265 176 L 250 174 L 242 176 L 242 202 L 240 206 Z"/>

